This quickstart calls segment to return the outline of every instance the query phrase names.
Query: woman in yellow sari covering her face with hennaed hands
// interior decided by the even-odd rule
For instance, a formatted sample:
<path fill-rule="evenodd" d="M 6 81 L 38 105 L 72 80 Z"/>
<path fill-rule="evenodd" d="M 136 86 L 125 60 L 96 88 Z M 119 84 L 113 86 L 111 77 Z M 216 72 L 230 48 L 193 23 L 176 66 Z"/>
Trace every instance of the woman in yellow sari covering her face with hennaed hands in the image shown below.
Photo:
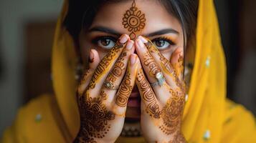
<path fill-rule="evenodd" d="M 213 1 L 65 1 L 56 95 L 23 107 L 3 141 L 256 142 L 225 70 Z"/>

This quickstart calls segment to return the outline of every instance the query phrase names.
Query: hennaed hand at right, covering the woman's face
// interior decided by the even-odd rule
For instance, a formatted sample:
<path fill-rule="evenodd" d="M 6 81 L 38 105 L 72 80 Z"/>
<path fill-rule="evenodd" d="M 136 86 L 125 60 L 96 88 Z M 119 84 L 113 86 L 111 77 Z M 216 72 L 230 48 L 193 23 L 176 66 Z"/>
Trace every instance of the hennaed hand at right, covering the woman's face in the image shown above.
<path fill-rule="evenodd" d="M 185 86 L 182 82 L 182 56 L 174 66 L 142 36 L 136 39 L 136 51 L 141 61 L 136 84 L 141 94 L 141 129 L 148 142 L 186 142 L 181 133 Z M 175 53 L 175 52 L 174 52 Z M 172 57 L 177 59 L 176 56 Z M 179 66 L 177 66 L 179 65 Z M 174 69 L 174 67 L 179 69 Z M 144 72 L 146 75 L 144 74 Z M 162 86 L 156 83 L 156 74 L 166 79 Z M 159 84 L 159 82 L 158 82 Z"/>

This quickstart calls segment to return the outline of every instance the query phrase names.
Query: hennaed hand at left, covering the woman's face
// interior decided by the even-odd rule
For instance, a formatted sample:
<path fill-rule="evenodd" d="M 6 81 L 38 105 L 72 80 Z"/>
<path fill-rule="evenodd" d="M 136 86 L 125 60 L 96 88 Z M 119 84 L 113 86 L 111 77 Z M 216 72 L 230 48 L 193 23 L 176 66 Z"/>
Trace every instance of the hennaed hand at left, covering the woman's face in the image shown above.
<path fill-rule="evenodd" d="M 134 49 L 124 34 L 101 61 L 96 50 L 90 52 L 89 69 L 77 89 L 80 131 L 74 142 L 115 142 L 119 137 L 137 73 Z"/>

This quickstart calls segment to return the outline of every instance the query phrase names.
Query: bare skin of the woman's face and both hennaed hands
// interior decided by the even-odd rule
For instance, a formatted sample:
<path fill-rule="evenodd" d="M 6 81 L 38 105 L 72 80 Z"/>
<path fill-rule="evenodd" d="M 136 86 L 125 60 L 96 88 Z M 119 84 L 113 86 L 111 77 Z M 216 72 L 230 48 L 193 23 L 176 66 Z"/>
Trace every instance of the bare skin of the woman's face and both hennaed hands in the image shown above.
<path fill-rule="evenodd" d="M 81 126 L 75 142 L 115 142 L 125 117 L 141 120 L 147 142 L 186 142 L 181 133 L 185 92 L 181 24 L 157 1 L 136 1 L 145 14 L 146 25 L 136 31 L 136 38 L 131 38 L 131 31 L 122 24 L 123 9 L 130 9 L 131 3 L 103 5 L 90 29 L 80 34 L 82 60 L 87 63 L 89 56 L 90 64 L 77 89 Z M 163 29 L 171 30 L 156 32 Z M 99 36 L 116 39 L 113 47 L 106 48 L 109 43 L 102 39 L 93 42 Z M 159 45 L 166 45 L 166 41 L 156 41 L 162 37 L 171 40 L 164 49 Z M 88 47 L 93 49 L 87 52 Z M 166 81 L 162 87 L 151 87 L 159 71 Z M 119 88 L 108 89 L 105 82 Z M 131 92 L 139 92 L 141 107 L 127 106 Z"/>

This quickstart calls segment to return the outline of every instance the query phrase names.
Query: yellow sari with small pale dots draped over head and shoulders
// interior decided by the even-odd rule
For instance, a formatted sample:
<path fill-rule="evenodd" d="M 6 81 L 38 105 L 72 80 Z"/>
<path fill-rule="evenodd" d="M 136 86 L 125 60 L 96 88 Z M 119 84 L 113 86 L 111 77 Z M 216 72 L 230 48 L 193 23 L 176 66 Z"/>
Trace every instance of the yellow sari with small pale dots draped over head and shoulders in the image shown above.
<path fill-rule="evenodd" d="M 58 19 L 52 51 L 55 95 L 43 95 L 19 109 L 14 124 L 1 142 L 72 142 L 80 126 L 75 99 L 75 48 Z M 253 115 L 226 98 L 226 64 L 213 0 L 200 0 L 196 53 L 184 109 L 182 132 L 188 142 L 256 142 Z M 117 142 L 144 142 L 142 137 Z"/>

